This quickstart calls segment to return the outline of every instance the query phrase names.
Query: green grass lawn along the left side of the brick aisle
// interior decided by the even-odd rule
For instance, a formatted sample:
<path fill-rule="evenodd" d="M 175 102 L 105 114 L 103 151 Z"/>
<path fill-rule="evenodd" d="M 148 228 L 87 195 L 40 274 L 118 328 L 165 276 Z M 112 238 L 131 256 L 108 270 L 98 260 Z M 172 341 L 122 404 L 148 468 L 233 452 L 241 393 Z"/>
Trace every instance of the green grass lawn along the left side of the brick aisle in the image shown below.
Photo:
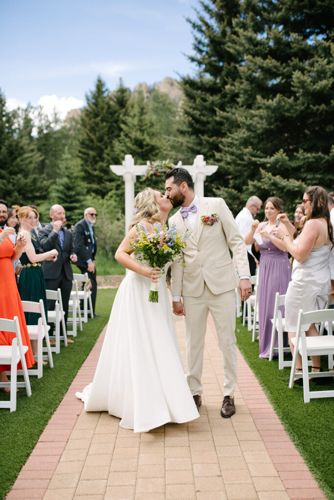
<path fill-rule="evenodd" d="M 78 328 L 74 344 L 64 347 L 59 354 L 53 353 L 54 368 L 45 366 L 43 377 L 31 376 L 32 395 L 26 390 L 18 392 L 17 410 L 0 411 L 0 498 L 10 491 L 22 466 L 34 449 L 49 419 L 66 394 L 82 363 L 92 350 L 96 339 L 109 319 L 116 289 L 98 290 L 96 312 L 100 317 L 83 323 Z M 0 399 L 9 395 L 0 392 Z"/>

